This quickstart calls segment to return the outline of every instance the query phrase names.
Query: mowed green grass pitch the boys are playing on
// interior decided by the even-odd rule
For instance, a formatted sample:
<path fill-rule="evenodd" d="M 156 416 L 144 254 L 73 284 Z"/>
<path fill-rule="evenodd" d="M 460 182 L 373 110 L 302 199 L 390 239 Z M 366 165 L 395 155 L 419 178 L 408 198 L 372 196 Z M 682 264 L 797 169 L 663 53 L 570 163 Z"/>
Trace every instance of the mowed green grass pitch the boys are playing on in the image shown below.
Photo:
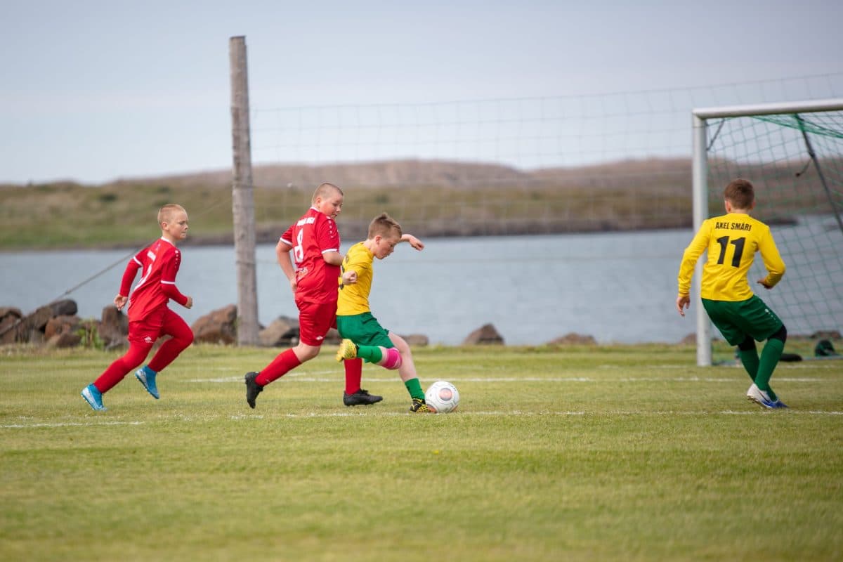
<path fill-rule="evenodd" d="M 690 346 L 431 348 L 411 415 L 364 367 L 341 404 L 330 346 L 244 401 L 277 351 L 194 345 L 153 400 L 119 354 L 0 356 L 3 560 L 830 560 L 843 556 L 843 361 L 784 363 L 763 411 Z"/>

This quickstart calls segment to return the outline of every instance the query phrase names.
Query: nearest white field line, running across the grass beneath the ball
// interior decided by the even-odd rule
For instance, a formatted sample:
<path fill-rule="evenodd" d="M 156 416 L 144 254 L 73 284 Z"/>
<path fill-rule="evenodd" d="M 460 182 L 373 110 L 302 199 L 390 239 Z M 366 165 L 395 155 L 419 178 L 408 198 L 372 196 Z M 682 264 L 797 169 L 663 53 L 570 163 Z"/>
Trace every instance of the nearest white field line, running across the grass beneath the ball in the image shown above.
<path fill-rule="evenodd" d="M 443 414 L 446 415 L 446 414 Z M 585 415 L 594 415 L 600 417 L 606 416 L 623 416 L 623 417 L 631 417 L 631 416 L 677 416 L 677 415 L 692 415 L 692 416 L 709 416 L 709 415 L 843 415 L 843 411 L 824 411 L 824 410 L 797 410 L 797 409 L 787 409 L 787 410 L 765 410 L 765 409 L 752 409 L 746 411 L 735 411 L 735 410 L 722 410 L 719 412 L 706 412 L 706 411 L 695 411 L 695 412 L 679 412 L 674 410 L 666 410 L 666 411 L 644 411 L 644 410 L 609 410 L 609 411 L 542 411 L 542 412 L 522 412 L 520 410 L 491 410 L 491 411 L 475 411 L 475 412 L 466 412 L 466 411 L 459 411 L 454 412 L 453 414 L 447 415 L 469 415 L 469 416 L 488 416 L 488 417 L 496 417 L 496 416 L 523 416 L 523 417 L 541 417 L 541 416 L 557 416 L 557 417 L 580 417 Z M 369 418 L 369 417 L 395 417 L 395 416 L 412 416 L 410 412 L 377 412 L 372 413 L 371 411 L 366 412 L 303 412 L 299 414 L 282 414 L 273 416 L 276 418 L 286 418 L 286 419 L 307 419 L 307 418 Z M 169 421 L 184 421 L 186 423 L 192 423 L 195 421 L 199 422 L 209 422 L 209 421 L 217 421 L 217 420 L 233 420 L 233 421 L 244 421 L 244 420 L 264 420 L 265 416 L 263 415 L 198 415 L 198 416 L 189 416 L 189 415 L 174 415 L 174 416 L 167 416 L 166 418 L 158 418 L 157 420 L 149 420 L 149 423 L 154 423 L 155 421 L 162 421 L 162 422 L 169 422 Z M 140 426 L 142 424 L 148 423 L 147 421 L 92 421 L 92 422 L 55 422 L 55 423 L 46 423 L 46 422 L 34 422 L 34 423 L 17 423 L 17 424 L 6 424 L 0 425 L 0 429 L 36 429 L 40 427 L 77 427 L 77 426 Z"/>

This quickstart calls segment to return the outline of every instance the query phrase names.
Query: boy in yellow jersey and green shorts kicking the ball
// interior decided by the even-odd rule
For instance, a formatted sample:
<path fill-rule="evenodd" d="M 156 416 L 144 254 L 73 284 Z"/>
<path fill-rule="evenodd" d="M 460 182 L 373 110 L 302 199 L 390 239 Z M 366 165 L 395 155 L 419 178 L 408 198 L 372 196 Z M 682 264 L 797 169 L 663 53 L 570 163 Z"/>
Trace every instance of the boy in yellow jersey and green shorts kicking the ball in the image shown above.
<path fill-rule="evenodd" d="M 400 242 L 409 242 L 418 250 L 424 248 L 418 238 L 402 233 L 398 222 L 384 212 L 369 224 L 368 238 L 346 252 L 336 302 L 336 329 L 343 338 L 336 361 L 360 357 L 387 369 L 398 369 L 412 399 L 410 411 L 429 412 L 410 345 L 400 335 L 381 327 L 369 308 L 374 259 L 383 260 Z"/>

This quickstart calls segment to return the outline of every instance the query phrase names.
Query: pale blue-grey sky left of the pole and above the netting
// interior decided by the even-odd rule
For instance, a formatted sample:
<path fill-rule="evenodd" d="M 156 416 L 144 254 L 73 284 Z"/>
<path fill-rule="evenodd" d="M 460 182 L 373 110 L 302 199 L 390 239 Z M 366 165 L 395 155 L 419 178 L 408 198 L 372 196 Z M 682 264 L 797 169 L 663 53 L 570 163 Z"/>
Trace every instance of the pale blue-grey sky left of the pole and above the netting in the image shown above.
<path fill-rule="evenodd" d="M 2 13 L 0 183 L 230 169 L 228 47 L 239 35 L 256 110 L 843 72 L 837 0 L 4 0 Z"/>

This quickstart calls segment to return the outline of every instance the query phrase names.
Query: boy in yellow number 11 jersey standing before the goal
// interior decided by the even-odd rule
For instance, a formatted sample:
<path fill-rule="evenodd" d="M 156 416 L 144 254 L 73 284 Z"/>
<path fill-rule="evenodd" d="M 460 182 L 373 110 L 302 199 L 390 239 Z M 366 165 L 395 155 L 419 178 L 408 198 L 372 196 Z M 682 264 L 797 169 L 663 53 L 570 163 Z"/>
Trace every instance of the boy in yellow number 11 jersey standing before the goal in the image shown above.
<path fill-rule="evenodd" d="M 690 304 L 690 280 L 696 260 L 708 250 L 702 269 L 701 297 L 711 322 L 730 345 L 738 345 L 752 386 L 746 397 L 762 408 L 787 408 L 770 387 L 770 377 L 779 362 L 787 340 L 787 329 L 776 313 L 756 297 L 747 282 L 749 266 L 756 252 L 761 253 L 767 276 L 758 283 L 772 289 L 785 273 L 785 264 L 764 222 L 749 216 L 754 209 L 754 188 L 746 179 L 734 179 L 723 191 L 726 213 L 702 223 L 679 265 L 679 296 L 676 309 Z M 761 356 L 755 340 L 767 340 Z"/>

